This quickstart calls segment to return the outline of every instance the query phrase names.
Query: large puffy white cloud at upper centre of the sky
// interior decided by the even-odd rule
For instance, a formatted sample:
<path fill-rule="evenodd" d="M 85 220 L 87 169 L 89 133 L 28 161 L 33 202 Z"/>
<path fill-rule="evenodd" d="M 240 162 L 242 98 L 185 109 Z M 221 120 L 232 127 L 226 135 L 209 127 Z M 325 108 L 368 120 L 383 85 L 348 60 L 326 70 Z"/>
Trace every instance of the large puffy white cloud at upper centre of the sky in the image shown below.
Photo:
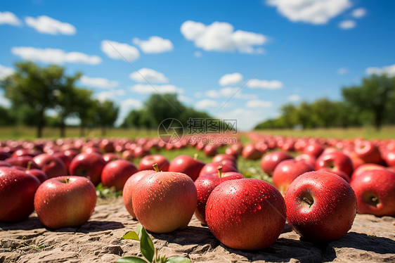
<path fill-rule="evenodd" d="M 214 22 L 211 25 L 188 20 L 181 25 L 183 36 L 205 51 L 235 51 L 254 49 L 268 40 L 264 34 L 234 31 L 233 25 Z"/>

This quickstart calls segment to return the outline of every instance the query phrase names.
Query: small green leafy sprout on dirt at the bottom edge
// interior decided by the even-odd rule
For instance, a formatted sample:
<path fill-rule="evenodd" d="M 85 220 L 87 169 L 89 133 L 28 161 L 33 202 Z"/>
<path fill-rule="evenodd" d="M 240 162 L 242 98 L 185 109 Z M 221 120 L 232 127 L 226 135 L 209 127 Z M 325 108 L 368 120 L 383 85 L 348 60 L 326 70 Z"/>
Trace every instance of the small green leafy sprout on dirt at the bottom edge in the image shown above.
<path fill-rule="evenodd" d="M 141 254 L 145 257 L 122 257 L 115 263 L 190 263 L 186 257 L 165 257 L 157 255 L 157 249 L 154 248 L 153 240 L 148 236 L 143 226 L 137 226 L 136 231 L 129 231 L 122 236 L 123 239 L 133 239 L 140 241 Z"/>

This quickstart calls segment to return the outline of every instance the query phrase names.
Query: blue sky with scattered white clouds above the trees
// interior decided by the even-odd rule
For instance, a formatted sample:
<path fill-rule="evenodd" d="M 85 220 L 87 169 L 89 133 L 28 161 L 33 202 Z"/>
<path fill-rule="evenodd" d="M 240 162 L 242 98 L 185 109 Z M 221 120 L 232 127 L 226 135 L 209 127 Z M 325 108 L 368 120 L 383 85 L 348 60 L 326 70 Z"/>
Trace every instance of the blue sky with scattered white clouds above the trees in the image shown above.
<path fill-rule="evenodd" d="M 56 63 L 115 101 L 118 123 L 172 91 L 247 130 L 285 103 L 395 75 L 394 14 L 368 0 L 1 1 L 0 78 L 21 60 Z"/>

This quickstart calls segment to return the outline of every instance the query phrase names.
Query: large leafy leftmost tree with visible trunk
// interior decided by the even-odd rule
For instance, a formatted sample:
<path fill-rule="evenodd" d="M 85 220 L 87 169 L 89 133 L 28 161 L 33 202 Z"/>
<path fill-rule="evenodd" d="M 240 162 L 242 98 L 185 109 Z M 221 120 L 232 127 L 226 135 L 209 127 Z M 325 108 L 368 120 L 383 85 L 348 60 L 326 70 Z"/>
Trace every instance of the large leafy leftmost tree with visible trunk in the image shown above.
<path fill-rule="evenodd" d="M 57 65 L 41 68 L 32 62 L 15 63 L 15 68 L 15 73 L 6 77 L 0 86 L 13 107 L 27 107 L 34 115 L 37 137 L 41 137 L 46 110 L 57 105 L 58 95 L 67 86 L 65 69 Z"/>

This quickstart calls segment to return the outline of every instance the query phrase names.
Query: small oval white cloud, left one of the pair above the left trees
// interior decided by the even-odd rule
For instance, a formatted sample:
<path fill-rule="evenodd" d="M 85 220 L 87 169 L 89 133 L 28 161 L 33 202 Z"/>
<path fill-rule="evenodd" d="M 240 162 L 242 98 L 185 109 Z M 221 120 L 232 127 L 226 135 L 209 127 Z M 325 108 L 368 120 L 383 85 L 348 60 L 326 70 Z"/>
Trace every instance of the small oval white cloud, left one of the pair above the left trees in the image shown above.
<path fill-rule="evenodd" d="M 101 51 L 109 58 L 114 59 L 123 60 L 126 58 L 129 61 L 134 61 L 140 57 L 140 52 L 135 46 L 110 40 L 101 41 Z"/>

